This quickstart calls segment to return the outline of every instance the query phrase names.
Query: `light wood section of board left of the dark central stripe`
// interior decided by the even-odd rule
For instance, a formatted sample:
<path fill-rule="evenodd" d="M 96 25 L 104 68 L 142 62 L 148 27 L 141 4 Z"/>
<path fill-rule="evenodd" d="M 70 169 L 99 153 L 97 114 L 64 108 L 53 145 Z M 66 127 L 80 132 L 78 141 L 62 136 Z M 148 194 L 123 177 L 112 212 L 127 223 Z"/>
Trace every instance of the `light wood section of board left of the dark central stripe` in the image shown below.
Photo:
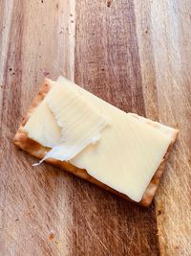
<path fill-rule="evenodd" d="M 0 254 L 71 255 L 73 178 L 11 144 L 44 77 L 74 79 L 74 1 L 1 4 Z M 73 16 L 72 16 L 73 15 Z"/>

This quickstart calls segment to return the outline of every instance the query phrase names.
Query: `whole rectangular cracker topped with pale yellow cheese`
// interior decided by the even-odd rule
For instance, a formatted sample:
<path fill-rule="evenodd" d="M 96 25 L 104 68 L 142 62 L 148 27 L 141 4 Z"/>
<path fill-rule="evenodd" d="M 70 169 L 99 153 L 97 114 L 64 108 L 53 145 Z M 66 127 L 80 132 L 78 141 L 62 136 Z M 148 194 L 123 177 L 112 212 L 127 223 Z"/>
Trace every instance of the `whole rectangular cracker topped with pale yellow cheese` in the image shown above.
<path fill-rule="evenodd" d="M 148 206 L 177 134 L 59 77 L 44 81 L 13 143 L 39 163 Z"/>

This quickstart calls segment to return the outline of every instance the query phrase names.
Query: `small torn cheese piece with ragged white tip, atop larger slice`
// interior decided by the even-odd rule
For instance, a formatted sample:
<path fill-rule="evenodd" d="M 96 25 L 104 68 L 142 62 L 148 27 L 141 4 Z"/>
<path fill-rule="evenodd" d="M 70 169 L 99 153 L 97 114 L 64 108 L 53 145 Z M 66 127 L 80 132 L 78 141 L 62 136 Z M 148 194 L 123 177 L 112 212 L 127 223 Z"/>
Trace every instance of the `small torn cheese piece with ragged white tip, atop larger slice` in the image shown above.
<path fill-rule="evenodd" d="M 72 159 L 91 143 L 100 139 L 100 131 L 108 120 L 71 86 L 54 84 L 45 101 L 61 129 L 62 144 L 53 147 L 39 162 L 48 158 L 61 161 Z"/>

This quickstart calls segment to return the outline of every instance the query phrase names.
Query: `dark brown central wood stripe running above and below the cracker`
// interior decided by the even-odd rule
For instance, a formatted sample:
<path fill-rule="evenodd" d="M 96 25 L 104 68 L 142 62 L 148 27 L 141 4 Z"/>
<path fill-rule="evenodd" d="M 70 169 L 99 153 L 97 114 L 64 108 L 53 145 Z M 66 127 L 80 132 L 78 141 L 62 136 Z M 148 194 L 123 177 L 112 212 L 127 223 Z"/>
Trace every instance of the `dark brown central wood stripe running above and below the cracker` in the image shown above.
<path fill-rule="evenodd" d="M 133 1 L 113 2 L 110 9 L 104 1 L 99 5 L 77 2 L 75 42 L 75 81 L 125 111 L 144 115 Z M 92 185 L 79 182 L 76 192 L 79 186 L 81 190 L 75 200 L 84 197 L 85 201 L 80 221 L 77 208 L 74 211 L 74 251 L 80 255 L 91 255 L 91 251 L 97 255 L 158 255 L 154 207 L 142 210 L 105 191 L 95 194 Z M 87 211 L 91 202 L 95 214 L 91 208 Z"/>

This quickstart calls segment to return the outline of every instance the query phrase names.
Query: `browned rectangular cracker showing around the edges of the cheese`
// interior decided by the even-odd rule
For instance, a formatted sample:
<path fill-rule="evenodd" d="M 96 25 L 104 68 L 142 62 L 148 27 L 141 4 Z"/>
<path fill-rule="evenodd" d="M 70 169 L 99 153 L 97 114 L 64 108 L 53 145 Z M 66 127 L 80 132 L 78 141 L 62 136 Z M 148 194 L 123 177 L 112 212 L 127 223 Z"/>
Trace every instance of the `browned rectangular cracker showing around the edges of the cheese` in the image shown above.
<path fill-rule="evenodd" d="M 47 93 L 49 92 L 49 90 L 51 89 L 51 82 L 49 80 L 45 80 L 40 88 L 40 91 L 38 92 L 38 94 L 36 95 L 36 97 L 34 98 L 32 105 L 30 107 L 30 109 L 28 110 L 26 116 L 24 117 L 23 121 L 21 122 L 14 138 L 13 138 L 13 144 L 15 146 L 17 146 L 18 148 L 22 149 L 23 151 L 27 151 L 29 152 L 31 155 L 42 159 L 44 157 L 44 155 L 46 154 L 46 151 L 49 151 L 48 148 L 43 147 L 42 145 L 38 144 L 37 142 L 33 141 L 32 139 L 30 139 L 28 137 L 28 134 L 24 131 L 24 126 L 25 124 L 28 122 L 29 118 L 32 115 L 32 112 L 34 111 L 34 109 L 43 101 L 43 99 L 45 98 L 45 96 L 47 95 Z M 135 116 L 136 117 L 136 116 Z M 138 116 L 137 116 L 138 117 Z M 147 120 L 147 124 L 150 126 L 153 126 L 154 128 L 160 128 L 159 123 L 153 122 L 151 120 Z M 162 127 L 162 125 L 161 125 Z M 164 171 L 164 167 L 166 164 L 166 161 L 168 159 L 169 153 L 172 149 L 173 144 L 175 143 L 176 139 L 177 139 L 177 135 L 178 135 L 178 130 L 173 130 L 173 136 L 172 136 L 172 141 L 171 144 L 168 148 L 168 150 L 166 151 L 158 170 L 156 171 L 155 175 L 153 176 L 153 178 L 151 179 L 149 185 L 147 186 L 147 189 L 145 190 L 143 197 L 141 198 L 141 200 L 138 202 L 138 204 L 142 205 L 142 206 L 149 206 L 152 202 L 152 199 L 154 198 L 156 191 L 158 189 L 159 186 L 159 179 Z M 74 175 L 77 175 L 85 180 L 88 180 L 96 185 L 98 185 L 99 187 L 110 191 L 114 194 L 117 194 L 119 197 L 121 198 L 127 198 L 129 200 L 131 200 L 130 198 L 128 198 L 126 195 L 123 195 L 121 193 L 118 193 L 116 190 L 108 187 L 107 185 L 103 184 L 102 182 L 96 180 L 96 178 L 94 178 L 93 176 L 89 175 L 86 170 L 84 169 L 79 169 L 77 167 L 75 167 L 74 165 L 70 164 L 69 162 L 62 162 L 53 158 L 47 159 L 46 162 L 52 164 L 53 166 L 56 166 L 60 169 L 63 169 L 67 172 L 70 172 Z"/>

